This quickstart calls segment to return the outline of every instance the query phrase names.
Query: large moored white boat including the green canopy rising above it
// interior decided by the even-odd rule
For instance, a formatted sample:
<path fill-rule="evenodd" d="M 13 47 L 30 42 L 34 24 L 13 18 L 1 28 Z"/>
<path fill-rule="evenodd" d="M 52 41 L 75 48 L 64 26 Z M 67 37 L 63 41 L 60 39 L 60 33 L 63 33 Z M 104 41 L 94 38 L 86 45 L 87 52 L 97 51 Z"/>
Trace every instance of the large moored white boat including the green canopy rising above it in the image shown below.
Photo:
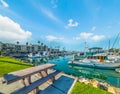
<path fill-rule="evenodd" d="M 89 51 L 84 52 L 83 55 L 74 55 L 69 61 L 69 64 L 82 67 L 115 70 L 120 68 L 120 58 L 117 58 L 117 56 L 115 57 L 115 55 L 109 56 L 107 52 L 102 50 L 102 48 L 93 47 L 89 48 Z"/>

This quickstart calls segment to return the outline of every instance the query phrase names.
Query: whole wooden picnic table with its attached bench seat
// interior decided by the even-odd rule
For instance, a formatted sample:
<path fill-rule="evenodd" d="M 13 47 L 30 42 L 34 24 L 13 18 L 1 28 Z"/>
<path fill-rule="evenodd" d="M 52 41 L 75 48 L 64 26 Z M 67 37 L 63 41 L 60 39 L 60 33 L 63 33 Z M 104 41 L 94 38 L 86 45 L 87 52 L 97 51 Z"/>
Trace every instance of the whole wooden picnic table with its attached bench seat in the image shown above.
<path fill-rule="evenodd" d="M 31 68 L 11 72 L 11 73 L 5 74 L 4 79 L 7 84 L 11 84 L 19 80 L 22 81 L 22 84 L 24 85 L 24 87 L 16 92 L 13 92 L 13 94 L 27 94 L 30 91 L 33 91 L 34 94 L 36 94 L 37 88 L 42 83 L 48 81 L 49 79 L 53 81 L 54 76 L 59 73 L 59 71 L 55 71 L 51 74 L 48 74 L 47 70 L 54 66 L 55 64 L 44 64 L 36 67 L 31 67 Z M 37 81 L 32 82 L 31 76 L 34 74 L 39 74 L 41 78 Z"/>

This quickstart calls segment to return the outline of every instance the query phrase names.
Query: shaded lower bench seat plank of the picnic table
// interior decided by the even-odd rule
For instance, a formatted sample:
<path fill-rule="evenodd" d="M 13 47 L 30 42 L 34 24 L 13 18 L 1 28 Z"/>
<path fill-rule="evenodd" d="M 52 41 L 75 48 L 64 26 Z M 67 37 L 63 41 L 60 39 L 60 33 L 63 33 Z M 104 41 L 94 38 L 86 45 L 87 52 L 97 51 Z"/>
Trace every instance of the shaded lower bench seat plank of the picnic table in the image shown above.
<path fill-rule="evenodd" d="M 30 91 L 36 89 L 41 84 L 43 84 L 46 81 L 48 81 L 49 79 L 53 78 L 58 73 L 60 73 L 60 71 L 55 71 L 54 73 L 48 74 L 46 77 L 43 77 L 43 78 L 41 78 L 41 79 L 31 83 L 29 86 L 23 87 L 22 89 L 20 89 L 20 90 L 18 90 L 16 92 L 13 92 L 12 94 L 27 94 Z"/>

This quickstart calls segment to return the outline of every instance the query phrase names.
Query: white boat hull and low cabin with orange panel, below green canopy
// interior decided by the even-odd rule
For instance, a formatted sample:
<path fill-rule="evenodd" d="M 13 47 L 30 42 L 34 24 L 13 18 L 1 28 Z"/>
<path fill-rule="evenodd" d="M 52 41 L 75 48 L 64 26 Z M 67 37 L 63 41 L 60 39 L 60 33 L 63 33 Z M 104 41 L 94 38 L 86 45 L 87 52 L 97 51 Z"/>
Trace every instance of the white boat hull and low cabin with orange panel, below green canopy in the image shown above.
<path fill-rule="evenodd" d="M 114 61 L 104 60 L 103 56 L 100 58 L 93 56 L 91 58 L 86 58 L 79 61 L 69 61 L 69 64 L 82 66 L 82 67 L 92 67 L 100 69 L 116 69 L 120 68 L 120 63 L 115 63 Z"/>

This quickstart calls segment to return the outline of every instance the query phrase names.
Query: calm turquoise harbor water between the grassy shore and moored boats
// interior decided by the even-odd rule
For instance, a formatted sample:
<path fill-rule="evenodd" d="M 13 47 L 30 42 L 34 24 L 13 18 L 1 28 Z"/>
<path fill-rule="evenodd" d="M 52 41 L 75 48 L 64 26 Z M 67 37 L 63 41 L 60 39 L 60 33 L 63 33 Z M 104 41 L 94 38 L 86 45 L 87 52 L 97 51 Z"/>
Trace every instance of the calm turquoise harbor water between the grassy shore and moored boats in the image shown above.
<path fill-rule="evenodd" d="M 102 70 L 102 69 L 94 69 L 94 68 L 85 68 L 85 67 L 78 67 L 78 66 L 71 66 L 68 65 L 68 61 L 71 56 L 66 57 L 59 57 L 53 60 L 49 60 L 49 63 L 56 64 L 54 69 L 63 71 L 67 74 L 72 74 L 75 76 L 83 76 L 86 78 L 96 78 L 102 82 L 107 82 L 112 86 L 120 88 L 120 73 L 117 73 L 113 70 Z M 39 65 L 42 62 L 37 59 L 34 62 Z"/>

